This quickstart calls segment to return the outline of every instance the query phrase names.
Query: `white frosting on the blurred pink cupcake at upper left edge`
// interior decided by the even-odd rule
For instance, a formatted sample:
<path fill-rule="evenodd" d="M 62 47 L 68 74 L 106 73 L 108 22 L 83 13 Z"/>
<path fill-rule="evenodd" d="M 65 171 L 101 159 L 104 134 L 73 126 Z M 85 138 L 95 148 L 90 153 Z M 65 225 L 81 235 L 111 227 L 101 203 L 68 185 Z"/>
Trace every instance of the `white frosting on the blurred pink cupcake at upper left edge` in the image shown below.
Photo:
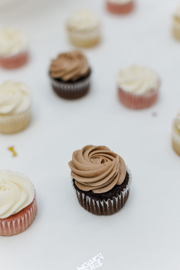
<path fill-rule="evenodd" d="M 19 30 L 6 28 L 0 31 L 0 55 L 12 56 L 24 52 L 28 42 L 26 36 Z"/>

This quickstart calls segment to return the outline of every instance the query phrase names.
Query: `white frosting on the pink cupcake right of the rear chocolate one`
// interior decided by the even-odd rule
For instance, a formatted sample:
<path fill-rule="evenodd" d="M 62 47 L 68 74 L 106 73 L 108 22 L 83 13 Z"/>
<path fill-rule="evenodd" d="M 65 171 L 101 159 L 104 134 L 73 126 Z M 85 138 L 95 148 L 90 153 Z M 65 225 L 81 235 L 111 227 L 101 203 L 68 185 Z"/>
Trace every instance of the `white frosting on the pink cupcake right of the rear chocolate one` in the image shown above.
<path fill-rule="evenodd" d="M 123 68 L 117 74 L 118 87 L 128 93 L 143 95 L 159 86 L 155 72 L 142 66 Z"/>

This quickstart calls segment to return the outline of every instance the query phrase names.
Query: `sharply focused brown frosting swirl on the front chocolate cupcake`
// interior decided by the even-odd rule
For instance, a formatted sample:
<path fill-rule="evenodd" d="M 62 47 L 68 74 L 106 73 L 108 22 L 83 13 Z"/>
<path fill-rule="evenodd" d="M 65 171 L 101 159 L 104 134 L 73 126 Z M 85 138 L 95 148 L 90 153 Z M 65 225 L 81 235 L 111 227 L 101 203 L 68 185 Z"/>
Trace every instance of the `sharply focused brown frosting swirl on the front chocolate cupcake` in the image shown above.
<path fill-rule="evenodd" d="M 106 146 L 87 145 L 74 151 L 69 167 L 77 187 L 94 193 L 121 185 L 126 175 L 124 160 Z"/>

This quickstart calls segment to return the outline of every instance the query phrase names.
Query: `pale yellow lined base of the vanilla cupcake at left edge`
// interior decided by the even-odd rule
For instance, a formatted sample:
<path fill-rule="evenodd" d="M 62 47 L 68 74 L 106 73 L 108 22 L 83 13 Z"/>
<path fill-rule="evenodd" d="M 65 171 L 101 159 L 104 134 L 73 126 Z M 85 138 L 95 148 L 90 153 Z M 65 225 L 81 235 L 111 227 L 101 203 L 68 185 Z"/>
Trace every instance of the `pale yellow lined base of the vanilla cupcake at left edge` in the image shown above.
<path fill-rule="evenodd" d="M 24 113 L 17 115 L 0 115 L 0 132 L 16 133 L 28 126 L 31 115 L 30 108 Z"/>

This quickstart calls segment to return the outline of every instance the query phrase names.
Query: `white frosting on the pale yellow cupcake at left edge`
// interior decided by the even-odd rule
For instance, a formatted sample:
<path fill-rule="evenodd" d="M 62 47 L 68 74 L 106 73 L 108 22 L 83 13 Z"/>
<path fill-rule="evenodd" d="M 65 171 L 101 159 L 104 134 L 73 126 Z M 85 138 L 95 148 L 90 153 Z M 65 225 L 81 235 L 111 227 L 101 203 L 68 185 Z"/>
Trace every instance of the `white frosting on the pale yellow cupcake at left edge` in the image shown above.
<path fill-rule="evenodd" d="M 31 103 L 31 90 L 23 83 L 6 81 L 0 86 L 0 115 L 23 113 Z"/>

